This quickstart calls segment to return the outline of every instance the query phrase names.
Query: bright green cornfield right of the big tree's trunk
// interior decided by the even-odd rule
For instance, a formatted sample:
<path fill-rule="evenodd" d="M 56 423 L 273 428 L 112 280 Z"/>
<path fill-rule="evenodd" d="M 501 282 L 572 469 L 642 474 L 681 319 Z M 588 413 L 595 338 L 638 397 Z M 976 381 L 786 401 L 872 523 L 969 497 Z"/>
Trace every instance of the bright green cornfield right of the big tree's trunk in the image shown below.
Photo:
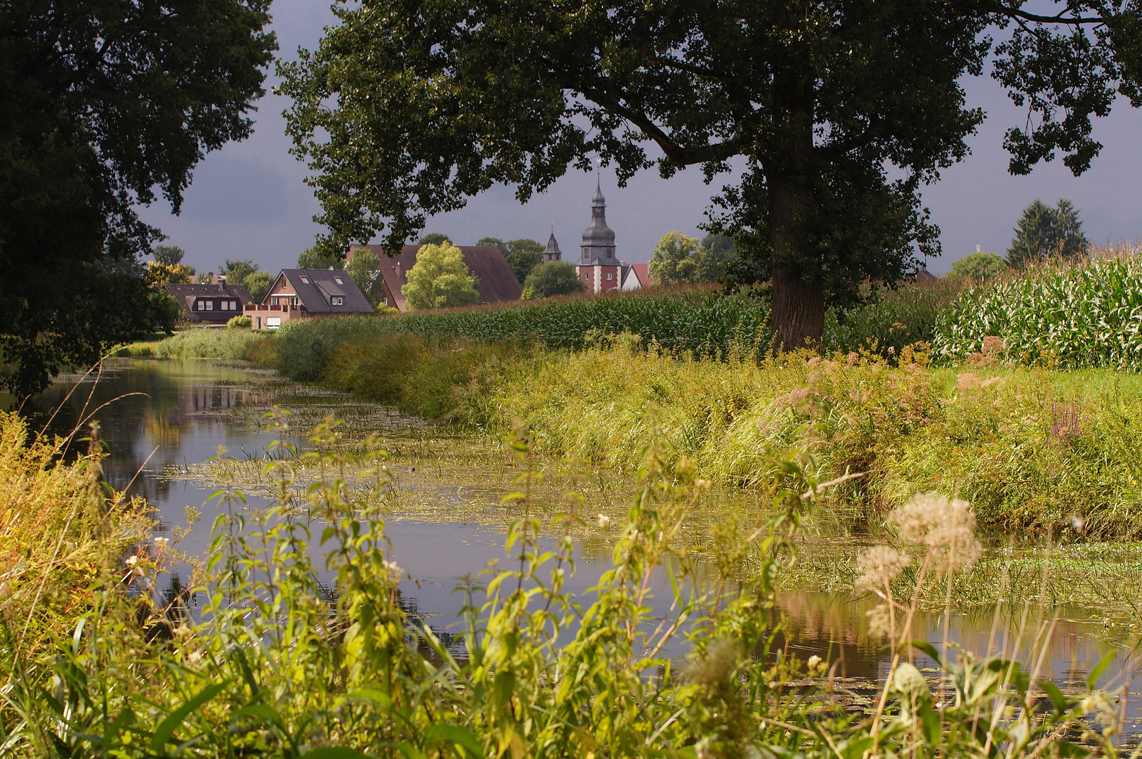
<path fill-rule="evenodd" d="M 1003 339 L 1007 358 L 1062 369 L 1142 369 L 1142 261 L 1136 256 L 1030 272 L 972 287 L 935 327 L 933 352 L 944 362 Z"/>

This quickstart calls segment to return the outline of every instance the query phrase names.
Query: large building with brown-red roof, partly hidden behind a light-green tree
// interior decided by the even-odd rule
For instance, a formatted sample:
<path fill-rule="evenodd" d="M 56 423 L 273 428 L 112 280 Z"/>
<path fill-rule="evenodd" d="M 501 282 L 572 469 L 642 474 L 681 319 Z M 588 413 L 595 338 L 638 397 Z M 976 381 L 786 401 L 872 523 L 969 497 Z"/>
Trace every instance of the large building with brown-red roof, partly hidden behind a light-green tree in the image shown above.
<path fill-rule="evenodd" d="M 501 301 L 518 301 L 523 295 L 523 288 L 512 273 L 512 267 L 507 265 L 499 248 L 492 245 L 461 245 L 460 255 L 468 266 L 468 272 L 476 280 L 480 290 L 480 303 L 499 303 Z M 380 259 L 380 271 L 377 277 L 381 282 L 375 288 L 378 299 L 383 305 L 387 305 L 400 311 L 404 311 L 404 294 L 401 288 L 408 283 L 409 270 L 417 263 L 417 250 L 419 246 L 407 245 L 401 251 L 389 257 L 385 253 L 384 246 L 379 245 L 354 245 L 346 256 L 347 261 L 353 259 L 353 251 L 361 249 L 371 250 Z"/>

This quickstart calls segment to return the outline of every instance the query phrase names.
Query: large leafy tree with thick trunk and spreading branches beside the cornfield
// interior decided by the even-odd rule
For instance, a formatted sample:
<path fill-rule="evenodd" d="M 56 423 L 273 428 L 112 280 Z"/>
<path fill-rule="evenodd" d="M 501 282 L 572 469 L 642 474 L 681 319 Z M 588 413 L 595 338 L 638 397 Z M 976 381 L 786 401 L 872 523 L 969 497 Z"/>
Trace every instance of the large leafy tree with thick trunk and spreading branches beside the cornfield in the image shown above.
<path fill-rule="evenodd" d="M 1016 174 L 1056 153 L 1083 171 L 1101 147 L 1091 118 L 1117 94 L 1142 103 L 1137 0 L 1044 7 L 362 0 L 281 67 L 282 91 L 330 249 L 381 231 L 395 249 L 428 214 L 494 183 L 526 200 L 593 157 L 620 182 L 656 163 L 740 169 L 711 229 L 739 242 L 733 281 L 772 283 L 789 347 L 819 341 L 826 304 L 860 281 L 939 251 L 919 190 L 983 120 L 965 74 L 990 71 L 1027 110 L 1005 141 Z"/>

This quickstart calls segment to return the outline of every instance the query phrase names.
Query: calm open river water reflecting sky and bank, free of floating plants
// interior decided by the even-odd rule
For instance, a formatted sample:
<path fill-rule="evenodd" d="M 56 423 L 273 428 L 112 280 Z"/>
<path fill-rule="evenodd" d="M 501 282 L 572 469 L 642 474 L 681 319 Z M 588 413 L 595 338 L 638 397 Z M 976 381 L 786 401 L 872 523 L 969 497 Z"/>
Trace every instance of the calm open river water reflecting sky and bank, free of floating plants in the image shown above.
<path fill-rule="evenodd" d="M 145 497 L 153 505 L 160 518 L 156 536 L 169 537 L 175 527 L 185 526 L 187 506 L 201 509 L 202 520 L 179 548 L 188 554 L 202 556 L 208 550 L 210 524 L 218 509 L 206 501 L 217 486 L 204 482 L 201 477 L 180 476 L 179 470 L 193 470 L 192 465 L 208 461 L 219 447 L 240 458 L 263 452 L 274 438 L 260 431 L 251 420 L 257 420 L 258 412 L 268 408 L 271 402 L 288 401 L 289 394 L 281 392 L 288 386 L 266 373 L 209 361 L 115 361 L 104 369 L 98 383 L 90 377 L 61 377 L 35 399 L 34 408 L 27 410 L 40 414 L 42 421 L 58 409 L 51 429 L 64 433 L 88 416 L 98 420 L 108 445 L 104 464 L 108 481 L 118 489 Z M 293 401 L 305 406 L 293 410 L 304 410 L 307 418 L 320 418 L 324 413 L 355 414 L 359 421 L 364 420 L 363 426 L 383 433 L 397 446 L 402 438 L 413 439 L 425 433 L 423 423 L 338 393 L 307 389 Z M 239 410 L 244 413 L 235 414 Z M 359 426 L 362 425 L 359 423 Z M 304 448 L 301 439 L 296 438 L 292 442 Z M 474 524 L 461 516 L 450 516 L 447 508 L 466 485 L 486 490 L 486 478 L 480 479 L 482 481 L 461 482 L 460 487 L 442 487 L 439 493 L 442 508 L 433 518 L 393 519 L 386 526 L 395 560 L 415 578 L 401 585 L 403 604 L 439 631 L 445 631 L 456 621 L 461 604 L 461 597 L 452 592 L 457 578 L 474 576 L 490 562 L 506 561 L 506 519 L 500 527 L 489 527 L 488 520 Z M 506 492 L 510 487 L 510 476 L 501 485 Z M 257 497 L 251 497 L 250 502 L 251 505 L 265 503 Z M 608 568 L 609 548 L 605 542 L 588 544 L 579 549 L 577 560 L 577 572 L 569 586 L 574 592 L 582 592 Z M 315 566 L 323 566 L 323 562 L 317 560 Z M 656 591 L 656 613 L 665 614 L 670 598 L 665 577 L 658 578 Z M 788 593 L 781 602 L 787 615 L 782 646 L 796 650 L 803 658 L 818 654 L 841 660 L 838 673 L 849 677 L 877 679 L 886 670 L 884 649 L 863 632 L 868 626 L 864 613 L 871 604 L 853 601 L 847 594 L 822 592 Z M 1043 613 L 1042 609 L 1029 613 L 1030 626 L 1034 628 Z M 1124 677 L 1131 677 L 1131 690 L 1136 694 L 1142 689 L 1142 679 L 1131 671 L 1126 641 L 1115 645 L 1108 642 L 1105 634 L 1096 634 L 1101 632 L 1101 615 L 1081 608 L 1046 610 L 1048 617 L 1052 613 L 1057 614 L 1059 620 L 1043 663 L 1043 676 L 1060 685 L 1078 686 L 1094 663 L 1108 652 L 1117 652 L 1116 664 L 1104 681 L 1120 685 Z M 994 609 L 954 614 L 949 621 L 949 640 L 975 652 L 987 650 L 989 645 L 992 649 L 1015 649 L 1027 661 L 1030 641 L 1016 640 L 1014 632 L 1021 616 L 1022 608 L 1003 610 L 997 625 Z M 939 615 L 920 615 L 918 625 L 926 630 L 928 640 L 942 639 L 944 621 Z M 1128 711 L 1136 724 L 1140 700 L 1133 698 Z"/>

